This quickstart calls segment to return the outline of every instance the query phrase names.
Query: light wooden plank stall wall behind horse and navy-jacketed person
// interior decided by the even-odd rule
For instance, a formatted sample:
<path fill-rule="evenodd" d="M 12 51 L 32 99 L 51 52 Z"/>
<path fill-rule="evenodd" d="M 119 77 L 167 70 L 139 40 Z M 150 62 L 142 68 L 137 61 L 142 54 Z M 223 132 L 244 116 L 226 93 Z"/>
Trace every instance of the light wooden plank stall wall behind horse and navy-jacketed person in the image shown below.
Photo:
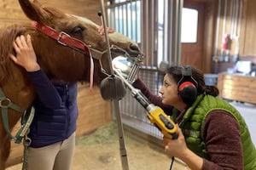
<path fill-rule="evenodd" d="M 101 10 L 100 0 L 39 0 L 44 6 L 55 7 L 67 14 L 84 16 L 101 25 L 97 12 Z M 18 0 L 0 0 L 0 27 L 29 21 L 23 14 Z M 99 88 L 90 89 L 88 84 L 79 84 L 79 120 L 77 135 L 90 133 L 111 120 L 110 103 L 101 97 Z M 20 126 L 14 129 L 14 133 Z M 22 144 L 13 144 L 8 165 L 21 161 Z"/>

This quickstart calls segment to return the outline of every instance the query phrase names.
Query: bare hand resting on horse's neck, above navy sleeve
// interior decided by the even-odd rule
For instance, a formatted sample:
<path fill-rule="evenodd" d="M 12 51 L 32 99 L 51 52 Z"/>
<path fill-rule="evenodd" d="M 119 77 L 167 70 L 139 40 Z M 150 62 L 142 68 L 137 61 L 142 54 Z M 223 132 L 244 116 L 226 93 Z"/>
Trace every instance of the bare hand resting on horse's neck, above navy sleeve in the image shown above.
<path fill-rule="evenodd" d="M 37 62 L 35 51 L 32 47 L 32 41 L 30 35 L 24 37 L 16 37 L 13 44 L 16 52 L 16 56 L 10 54 L 10 58 L 13 59 L 15 64 L 20 65 L 26 69 L 26 71 L 38 71 L 40 66 Z"/>

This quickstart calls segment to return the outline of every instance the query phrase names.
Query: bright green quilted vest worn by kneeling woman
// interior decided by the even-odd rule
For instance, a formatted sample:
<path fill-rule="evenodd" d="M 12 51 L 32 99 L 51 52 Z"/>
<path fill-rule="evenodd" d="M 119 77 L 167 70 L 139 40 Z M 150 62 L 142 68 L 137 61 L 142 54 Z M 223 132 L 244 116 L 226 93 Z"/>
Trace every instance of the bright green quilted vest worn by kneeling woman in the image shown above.
<path fill-rule="evenodd" d="M 246 122 L 232 105 L 229 105 L 223 99 L 218 99 L 218 97 L 215 98 L 211 95 L 200 95 L 195 100 L 195 103 L 185 112 L 180 127 L 189 149 L 194 151 L 196 155 L 209 160 L 207 147 L 203 139 L 203 128 L 208 113 L 214 110 L 227 111 L 236 118 L 237 122 L 239 122 L 244 169 L 255 170 L 256 150 Z"/>

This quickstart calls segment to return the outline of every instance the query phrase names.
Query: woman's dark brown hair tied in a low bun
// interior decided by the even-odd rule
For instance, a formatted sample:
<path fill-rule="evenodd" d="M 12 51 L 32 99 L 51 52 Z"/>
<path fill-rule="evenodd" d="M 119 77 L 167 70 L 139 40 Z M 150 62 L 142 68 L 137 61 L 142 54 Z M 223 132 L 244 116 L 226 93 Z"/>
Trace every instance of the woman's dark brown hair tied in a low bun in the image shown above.
<path fill-rule="evenodd" d="M 204 78 L 204 73 L 193 67 L 191 67 L 191 71 L 192 71 L 192 77 L 195 79 L 195 81 L 198 83 L 197 85 L 197 93 L 199 94 L 210 94 L 214 97 L 218 96 L 218 88 L 216 88 L 215 86 L 208 86 L 206 85 L 205 82 L 205 78 Z M 177 83 L 179 82 L 182 77 L 182 66 L 178 66 L 178 65 L 172 65 L 171 67 L 169 67 L 166 71 L 167 74 L 171 75 L 172 78 L 174 79 L 174 81 Z"/>

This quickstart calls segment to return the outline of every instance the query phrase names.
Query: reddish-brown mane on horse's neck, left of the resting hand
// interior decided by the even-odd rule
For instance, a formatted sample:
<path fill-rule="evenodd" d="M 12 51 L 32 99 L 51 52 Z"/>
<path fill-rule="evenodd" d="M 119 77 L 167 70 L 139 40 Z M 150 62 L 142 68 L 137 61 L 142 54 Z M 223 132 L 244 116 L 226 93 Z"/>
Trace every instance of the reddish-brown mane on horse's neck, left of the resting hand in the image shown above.
<path fill-rule="evenodd" d="M 13 42 L 17 36 L 24 34 L 25 26 L 7 26 L 0 29 L 0 84 L 6 77 L 9 77 L 11 70 L 9 69 L 11 59 L 9 54 L 15 54 Z"/>

